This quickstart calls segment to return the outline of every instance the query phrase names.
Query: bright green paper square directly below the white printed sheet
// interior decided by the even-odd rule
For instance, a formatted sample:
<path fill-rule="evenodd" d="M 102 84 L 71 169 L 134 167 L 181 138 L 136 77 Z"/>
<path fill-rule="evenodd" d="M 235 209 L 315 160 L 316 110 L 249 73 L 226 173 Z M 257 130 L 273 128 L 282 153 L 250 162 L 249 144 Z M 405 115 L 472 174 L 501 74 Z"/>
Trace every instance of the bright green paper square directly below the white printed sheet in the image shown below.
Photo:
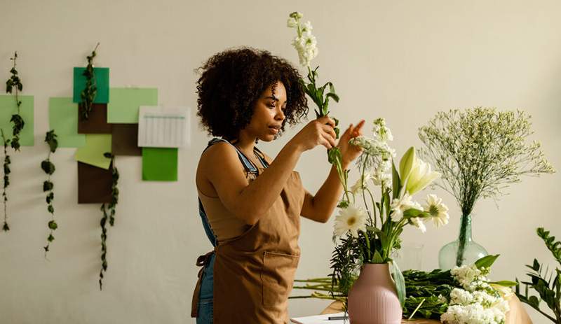
<path fill-rule="evenodd" d="M 177 148 L 142 148 L 142 180 L 177 181 Z"/>

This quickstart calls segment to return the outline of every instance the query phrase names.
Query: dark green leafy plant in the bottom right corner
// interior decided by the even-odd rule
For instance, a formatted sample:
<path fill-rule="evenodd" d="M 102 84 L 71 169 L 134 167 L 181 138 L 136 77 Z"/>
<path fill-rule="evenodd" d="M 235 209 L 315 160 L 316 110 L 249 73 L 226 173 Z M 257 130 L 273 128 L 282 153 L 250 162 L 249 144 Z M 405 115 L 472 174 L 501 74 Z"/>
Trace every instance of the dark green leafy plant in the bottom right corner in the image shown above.
<path fill-rule="evenodd" d="M 553 258 L 561 265 L 561 241 L 555 241 L 555 237 L 550 235 L 549 231 L 544 230 L 543 227 L 539 227 L 536 233 L 543 239 L 546 247 L 553 254 Z M 526 265 L 526 267 L 532 270 L 532 272 L 527 273 L 531 281 L 522 281 L 525 284 L 523 295 L 520 293 L 520 285 L 516 286 L 516 295 L 518 295 L 520 302 L 529 304 L 553 323 L 561 324 L 561 269 L 555 268 L 555 272 L 550 272 L 548 268 L 544 270 L 543 264 L 540 264 L 536 259 L 534 259 L 532 265 Z M 529 295 L 528 288 L 536 290 L 539 297 Z M 546 302 L 555 317 L 540 309 L 539 304 L 542 300 Z"/>

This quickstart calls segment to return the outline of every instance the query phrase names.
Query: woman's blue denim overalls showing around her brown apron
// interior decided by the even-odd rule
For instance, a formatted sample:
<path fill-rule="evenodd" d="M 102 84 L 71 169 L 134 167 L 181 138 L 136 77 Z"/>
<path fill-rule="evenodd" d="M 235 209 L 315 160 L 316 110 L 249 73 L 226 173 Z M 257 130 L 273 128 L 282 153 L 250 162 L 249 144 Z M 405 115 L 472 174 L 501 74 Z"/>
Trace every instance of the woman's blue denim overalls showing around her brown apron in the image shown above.
<path fill-rule="evenodd" d="M 225 139 L 212 139 L 208 142 L 208 146 L 206 149 L 210 148 L 212 144 L 215 144 L 219 141 L 224 141 L 229 143 L 229 141 Z M 229 143 L 231 144 L 231 143 Z M 257 167 L 250 162 L 248 157 L 246 157 L 243 153 L 236 146 L 236 152 L 238 153 L 238 157 L 243 164 L 243 167 L 246 172 L 256 174 L 258 173 Z M 258 153 L 261 153 L 259 149 L 255 148 Z M 204 152 L 204 151 L 203 151 Z M 269 167 L 269 164 L 260 156 L 257 155 L 259 158 L 259 162 L 263 165 L 263 167 Z M 203 204 L 201 203 L 201 199 L 198 199 L 198 214 L 201 216 L 201 220 L 203 222 L 203 228 L 205 229 L 206 236 L 208 237 L 210 243 L 213 247 L 217 246 L 217 239 L 215 234 L 212 232 L 212 228 L 210 228 L 210 223 L 208 222 L 208 218 L 205 213 L 205 209 L 203 208 Z M 198 291 L 198 303 L 192 305 L 192 308 L 195 311 L 191 311 L 191 316 L 196 317 L 197 324 L 209 324 L 212 323 L 212 316 L 213 316 L 213 267 L 215 263 L 215 252 L 211 251 L 206 255 L 201 255 L 197 258 L 197 265 L 199 267 L 203 267 L 199 272 L 198 276 L 201 277 L 201 287 Z M 197 291 L 195 291 L 197 293 Z"/>

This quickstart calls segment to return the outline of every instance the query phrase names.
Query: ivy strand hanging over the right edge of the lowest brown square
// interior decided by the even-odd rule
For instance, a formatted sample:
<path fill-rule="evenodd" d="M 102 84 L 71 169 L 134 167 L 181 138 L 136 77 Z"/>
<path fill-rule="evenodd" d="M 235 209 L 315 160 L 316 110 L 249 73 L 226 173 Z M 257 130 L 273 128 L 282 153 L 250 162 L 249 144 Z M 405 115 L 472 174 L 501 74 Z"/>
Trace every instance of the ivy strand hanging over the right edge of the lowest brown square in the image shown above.
<path fill-rule="evenodd" d="M 104 153 L 104 157 L 111 159 L 111 202 L 109 204 L 103 203 L 101 205 L 101 211 L 103 212 L 103 217 L 101 218 L 101 262 L 102 267 L 100 270 L 100 290 L 102 290 L 102 280 L 104 272 L 107 272 L 107 220 L 109 220 L 109 225 L 113 226 L 115 223 L 115 209 L 117 203 L 119 202 L 119 189 L 117 188 L 117 183 L 119 183 L 119 170 L 117 170 L 115 165 L 115 155 L 111 153 Z"/>

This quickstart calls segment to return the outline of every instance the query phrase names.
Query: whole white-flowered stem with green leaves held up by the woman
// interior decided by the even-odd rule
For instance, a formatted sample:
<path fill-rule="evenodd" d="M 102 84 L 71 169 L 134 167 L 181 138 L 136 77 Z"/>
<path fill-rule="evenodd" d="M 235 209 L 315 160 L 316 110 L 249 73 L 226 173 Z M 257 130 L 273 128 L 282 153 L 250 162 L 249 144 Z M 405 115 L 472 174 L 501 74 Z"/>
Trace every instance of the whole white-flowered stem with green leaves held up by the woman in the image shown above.
<path fill-rule="evenodd" d="M 331 82 L 327 82 L 320 87 L 316 85 L 319 66 L 316 66 L 315 69 L 311 68 L 311 60 L 318 56 L 316 36 L 313 36 L 311 33 L 313 29 L 311 22 L 302 23 L 300 21 L 302 17 L 304 17 L 302 13 L 291 13 L 288 17 L 287 26 L 296 29 L 296 36 L 292 39 L 292 46 L 294 46 L 298 52 L 300 65 L 302 65 L 308 73 L 306 77 L 307 80 L 301 78 L 299 81 L 304 92 L 308 94 L 316 106 L 318 106 L 314 111 L 316 111 L 316 118 L 320 118 L 329 114 L 330 99 L 339 102 L 339 96 L 335 93 L 335 88 Z M 337 118 L 333 118 L 333 120 L 335 121 L 334 131 L 337 138 L 339 138 L 339 128 L 337 127 L 339 120 L 337 120 Z M 329 162 L 337 167 L 339 178 L 341 178 L 343 185 L 346 186 L 346 174 L 342 169 L 342 157 L 339 148 L 330 148 L 327 157 Z"/>

